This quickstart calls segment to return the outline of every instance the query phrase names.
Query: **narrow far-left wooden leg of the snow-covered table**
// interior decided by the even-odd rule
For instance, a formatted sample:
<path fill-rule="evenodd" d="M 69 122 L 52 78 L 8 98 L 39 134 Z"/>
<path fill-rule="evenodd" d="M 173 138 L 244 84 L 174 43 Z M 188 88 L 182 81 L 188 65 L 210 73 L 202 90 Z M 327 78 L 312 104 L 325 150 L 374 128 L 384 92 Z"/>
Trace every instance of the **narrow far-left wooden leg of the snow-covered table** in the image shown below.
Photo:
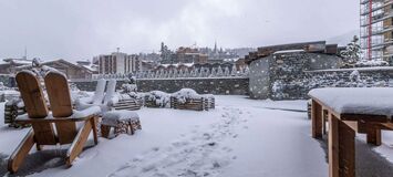
<path fill-rule="evenodd" d="M 322 137 L 322 106 L 312 101 L 311 103 L 312 137 Z"/>

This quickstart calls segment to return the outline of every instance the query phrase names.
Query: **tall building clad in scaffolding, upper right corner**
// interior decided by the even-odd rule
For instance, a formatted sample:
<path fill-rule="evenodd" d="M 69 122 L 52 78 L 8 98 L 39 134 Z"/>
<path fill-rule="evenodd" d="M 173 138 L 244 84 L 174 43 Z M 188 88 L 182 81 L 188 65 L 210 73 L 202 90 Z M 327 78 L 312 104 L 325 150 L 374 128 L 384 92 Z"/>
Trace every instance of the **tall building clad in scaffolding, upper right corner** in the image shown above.
<path fill-rule="evenodd" d="M 360 42 L 368 60 L 393 56 L 393 0 L 360 0 Z"/>

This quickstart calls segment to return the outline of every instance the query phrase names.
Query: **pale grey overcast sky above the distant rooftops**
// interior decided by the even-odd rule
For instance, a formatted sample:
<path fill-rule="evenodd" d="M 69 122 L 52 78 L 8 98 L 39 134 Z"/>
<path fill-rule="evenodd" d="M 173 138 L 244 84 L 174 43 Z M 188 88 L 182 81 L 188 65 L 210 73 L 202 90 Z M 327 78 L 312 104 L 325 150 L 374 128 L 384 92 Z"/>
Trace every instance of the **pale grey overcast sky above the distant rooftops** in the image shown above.
<path fill-rule="evenodd" d="M 359 29 L 359 0 L 0 0 L 0 59 L 318 41 Z"/>

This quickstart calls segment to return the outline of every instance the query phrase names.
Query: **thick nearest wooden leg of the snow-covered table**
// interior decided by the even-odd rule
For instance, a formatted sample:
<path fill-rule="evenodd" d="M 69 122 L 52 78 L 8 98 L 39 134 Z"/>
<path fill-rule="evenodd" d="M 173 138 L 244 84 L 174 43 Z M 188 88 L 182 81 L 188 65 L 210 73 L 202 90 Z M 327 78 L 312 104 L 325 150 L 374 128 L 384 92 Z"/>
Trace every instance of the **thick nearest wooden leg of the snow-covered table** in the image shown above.
<path fill-rule="evenodd" d="M 329 114 L 329 177 L 355 176 L 355 132 Z"/>

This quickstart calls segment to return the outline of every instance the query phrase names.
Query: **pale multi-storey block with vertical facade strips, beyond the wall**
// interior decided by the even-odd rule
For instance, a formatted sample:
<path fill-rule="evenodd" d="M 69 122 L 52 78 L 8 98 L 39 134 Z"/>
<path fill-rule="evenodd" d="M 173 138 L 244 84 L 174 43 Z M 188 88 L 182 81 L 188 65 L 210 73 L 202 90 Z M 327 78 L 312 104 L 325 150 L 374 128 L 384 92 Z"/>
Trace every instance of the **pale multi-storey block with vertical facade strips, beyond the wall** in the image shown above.
<path fill-rule="evenodd" d="M 113 52 L 95 56 L 93 61 L 99 62 L 100 74 L 125 74 L 137 71 L 136 55 Z"/>

